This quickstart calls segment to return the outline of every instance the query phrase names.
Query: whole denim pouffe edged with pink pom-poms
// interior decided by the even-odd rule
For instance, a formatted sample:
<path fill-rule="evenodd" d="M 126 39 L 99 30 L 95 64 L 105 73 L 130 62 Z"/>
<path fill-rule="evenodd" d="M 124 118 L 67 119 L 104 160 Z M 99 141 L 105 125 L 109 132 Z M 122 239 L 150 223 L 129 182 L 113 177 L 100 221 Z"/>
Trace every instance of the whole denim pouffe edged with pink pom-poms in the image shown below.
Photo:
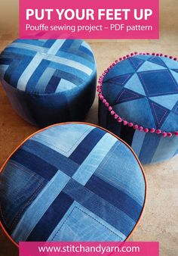
<path fill-rule="evenodd" d="M 142 164 L 178 153 L 178 62 L 162 54 L 119 58 L 100 76 L 100 126 L 127 142 Z"/>

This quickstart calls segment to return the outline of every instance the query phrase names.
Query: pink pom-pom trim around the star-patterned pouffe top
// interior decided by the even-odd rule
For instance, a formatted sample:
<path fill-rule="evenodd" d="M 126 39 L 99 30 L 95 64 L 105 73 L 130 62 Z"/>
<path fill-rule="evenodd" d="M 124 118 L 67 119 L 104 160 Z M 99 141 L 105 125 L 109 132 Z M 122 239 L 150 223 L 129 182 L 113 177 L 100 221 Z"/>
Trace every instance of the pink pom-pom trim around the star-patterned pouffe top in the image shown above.
<path fill-rule="evenodd" d="M 124 126 L 129 126 L 129 127 L 133 127 L 134 130 L 140 130 L 140 131 L 143 131 L 144 133 L 156 133 L 158 135 L 162 135 L 163 137 L 172 137 L 173 135 L 174 136 L 178 136 L 178 131 L 175 131 L 175 132 L 164 132 L 162 130 L 155 130 L 155 128 L 146 128 L 146 127 L 143 127 L 143 126 L 140 126 L 139 124 L 137 123 L 131 123 L 131 122 L 128 122 L 127 120 L 123 120 L 117 113 L 115 113 L 115 111 L 112 110 L 112 106 L 109 105 L 109 102 L 106 100 L 106 98 L 104 98 L 103 94 L 102 94 L 102 84 L 103 84 L 103 78 L 104 76 L 106 76 L 106 73 L 109 72 L 110 69 L 112 69 L 112 67 L 114 67 L 118 62 L 120 61 L 123 61 L 127 58 L 130 58 L 130 56 L 133 56 L 133 55 L 153 55 L 153 56 L 164 56 L 165 58 L 170 58 L 172 59 L 173 61 L 177 61 L 177 58 L 176 57 L 173 57 L 173 56 L 168 56 L 168 55 L 163 55 L 162 53 L 155 53 L 153 52 L 152 54 L 150 54 L 149 52 L 147 53 L 139 53 L 138 52 L 132 52 L 130 53 L 130 55 L 126 55 L 124 57 L 120 57 L 118 58 L 118 60 L 115 60 L 115 62 L 113 62 L 103 73 L 102 75 L 99 77 L 99 80 L 98 80 L 98 83 L 99 85 L 97 86 L 97 92 L 98 92 L 98 96 L 99 96 L 99 99 L 100 101 L 103 102 L 103 104 L 106 106 L 106 108 L 108 108 L 108 110 L 110 111 L 110 114 L 112 115 L 112 117 L 118 122 L 118 123 L 123 123 Z"/>

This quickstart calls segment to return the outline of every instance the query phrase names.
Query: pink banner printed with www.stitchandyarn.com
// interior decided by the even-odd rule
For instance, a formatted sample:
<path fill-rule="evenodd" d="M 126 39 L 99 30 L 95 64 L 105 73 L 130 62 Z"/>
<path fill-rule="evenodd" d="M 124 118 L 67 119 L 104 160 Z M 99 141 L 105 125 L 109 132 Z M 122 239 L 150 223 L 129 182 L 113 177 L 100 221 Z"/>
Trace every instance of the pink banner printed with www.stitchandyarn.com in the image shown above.
<path fill-rule="evenodd" d="M 158 242 L 20 242 L 20 256 L 158 256 Z"/>

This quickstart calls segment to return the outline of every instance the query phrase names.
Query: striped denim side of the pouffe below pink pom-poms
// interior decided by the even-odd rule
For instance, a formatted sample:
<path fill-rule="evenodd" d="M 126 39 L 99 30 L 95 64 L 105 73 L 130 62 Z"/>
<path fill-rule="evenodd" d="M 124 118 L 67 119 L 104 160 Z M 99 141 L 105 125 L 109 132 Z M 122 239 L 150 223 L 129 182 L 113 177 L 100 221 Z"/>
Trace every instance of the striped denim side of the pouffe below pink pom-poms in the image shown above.
<path fill-rule="evenodd" d="M 154 164 L 169 160 L 178 153 L 178 137 L 164 138 L 156 133 L 144 133 L 124 126 L 115 120 L 103 102 L 99 101 L 100 126 L 119 136 L 133 148 L 142 164 Z"/>

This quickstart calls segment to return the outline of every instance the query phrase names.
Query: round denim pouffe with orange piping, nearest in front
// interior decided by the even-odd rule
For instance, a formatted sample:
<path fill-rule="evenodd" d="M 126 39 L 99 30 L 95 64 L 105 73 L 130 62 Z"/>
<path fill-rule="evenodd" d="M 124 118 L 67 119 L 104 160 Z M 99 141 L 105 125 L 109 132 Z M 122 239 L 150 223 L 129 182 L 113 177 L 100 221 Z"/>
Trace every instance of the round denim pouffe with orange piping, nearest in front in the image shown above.
<path fill-rule="evenodd" d="M 87 123 L 35 133 L 0 175 L 2 225 L 17 243 L 124 241 L 145 198 L 145 176 L 133 151 Z"/>

